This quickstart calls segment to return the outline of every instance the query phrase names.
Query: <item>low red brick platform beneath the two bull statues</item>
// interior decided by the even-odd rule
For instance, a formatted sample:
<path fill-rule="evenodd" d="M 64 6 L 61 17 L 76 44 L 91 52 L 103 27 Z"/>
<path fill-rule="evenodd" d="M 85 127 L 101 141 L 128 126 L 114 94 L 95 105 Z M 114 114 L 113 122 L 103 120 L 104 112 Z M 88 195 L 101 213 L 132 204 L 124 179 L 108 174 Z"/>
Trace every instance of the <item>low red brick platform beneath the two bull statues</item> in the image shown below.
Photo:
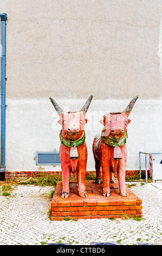
<path fill-rule="evenodd" d="M 109 197 L 102 196 L 103 183 L 86 180 L 87 196 L 78 196 L 77 181 L 70 181 L 70 195 L 62 198 L 62 181 L 58 181 L 51 200 L 51 220 L 79 220 L 92 218 L 121 218 L 124 215 L 142 217 L 142 201 L 126 188 L 127 197 L 119 194 L 119 184 L 111 184 Z"/>

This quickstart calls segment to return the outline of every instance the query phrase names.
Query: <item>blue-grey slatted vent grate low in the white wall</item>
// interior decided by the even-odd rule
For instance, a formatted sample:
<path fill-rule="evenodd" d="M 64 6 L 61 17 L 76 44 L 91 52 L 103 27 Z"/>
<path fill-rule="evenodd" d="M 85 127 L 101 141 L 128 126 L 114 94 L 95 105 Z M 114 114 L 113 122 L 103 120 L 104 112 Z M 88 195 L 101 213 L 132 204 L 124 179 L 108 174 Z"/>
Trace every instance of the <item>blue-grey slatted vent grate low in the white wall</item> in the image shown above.
<path fill-rule="evenodd" d="M 61 164 L 58 152 L 37 153 L 37 164 Z"/>

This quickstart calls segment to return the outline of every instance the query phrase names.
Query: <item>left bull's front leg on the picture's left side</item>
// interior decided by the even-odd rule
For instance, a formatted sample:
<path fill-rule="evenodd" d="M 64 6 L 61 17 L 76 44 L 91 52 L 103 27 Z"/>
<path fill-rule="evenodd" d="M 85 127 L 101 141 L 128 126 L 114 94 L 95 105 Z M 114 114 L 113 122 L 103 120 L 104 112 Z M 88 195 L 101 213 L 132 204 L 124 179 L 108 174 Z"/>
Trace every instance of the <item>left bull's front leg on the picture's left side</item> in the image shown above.
<path fill-rule="evenodd" d="M 69 176 L 70 176 L 70 168 L 64 167 L 62 168 L 62 198 L 69 197 Z"/>

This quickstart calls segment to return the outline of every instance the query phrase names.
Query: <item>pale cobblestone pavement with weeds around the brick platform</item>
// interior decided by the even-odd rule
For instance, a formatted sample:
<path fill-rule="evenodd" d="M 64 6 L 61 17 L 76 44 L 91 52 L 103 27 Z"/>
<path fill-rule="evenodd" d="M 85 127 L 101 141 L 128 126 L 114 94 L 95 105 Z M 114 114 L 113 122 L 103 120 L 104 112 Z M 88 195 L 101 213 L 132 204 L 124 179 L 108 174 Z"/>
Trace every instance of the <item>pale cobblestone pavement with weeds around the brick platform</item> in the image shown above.
<path fill-rule="evenodd" d="M 71 243 L 90 245 L 114 242 L 119 245 L 162 244 L 162 182 L 135 184 L 131 189 L 142 200 L 141 221 L 78 220 L 50 221 L 49 192 L 53 187 L 17 185 L 10 196 L 0 195 L 0 245 Z"/>

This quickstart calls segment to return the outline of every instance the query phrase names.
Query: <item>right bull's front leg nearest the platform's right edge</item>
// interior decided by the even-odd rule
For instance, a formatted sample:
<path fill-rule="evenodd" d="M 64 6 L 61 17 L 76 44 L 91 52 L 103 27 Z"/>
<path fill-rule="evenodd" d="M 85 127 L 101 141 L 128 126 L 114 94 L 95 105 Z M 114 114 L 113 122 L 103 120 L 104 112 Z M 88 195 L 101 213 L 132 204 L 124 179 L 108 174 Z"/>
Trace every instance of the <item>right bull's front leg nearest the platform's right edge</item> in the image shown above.
<path fill-rule="evenodd" d="M 126 174 L 126 160 L 120 159 L 118 164 L 118 181 L 119 181 L 119 191 L 120 196 L 127 197 L 126 193 L 126 182 L 125 182 L 125 174 Z"/>

